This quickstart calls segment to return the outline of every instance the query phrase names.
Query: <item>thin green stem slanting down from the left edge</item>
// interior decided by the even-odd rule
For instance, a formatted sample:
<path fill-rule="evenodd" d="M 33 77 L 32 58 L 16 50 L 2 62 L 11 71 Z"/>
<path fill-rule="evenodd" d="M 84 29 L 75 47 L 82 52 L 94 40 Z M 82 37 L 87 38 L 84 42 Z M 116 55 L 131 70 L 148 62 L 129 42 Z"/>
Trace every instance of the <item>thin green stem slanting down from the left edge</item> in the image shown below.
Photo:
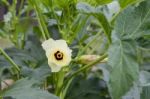
<path fill-rule="evenodd" d="M 4 57 L 12 64 L 12 66 L 14 66 L 14 68 L 16 68 L 16 70 L 18 72 L 20 72 L 20 68 L 19 66 L 7 55 L 7 53 L 5 53 L 5 51 L 0 48 L 0 52 L 4 55 Z"/>

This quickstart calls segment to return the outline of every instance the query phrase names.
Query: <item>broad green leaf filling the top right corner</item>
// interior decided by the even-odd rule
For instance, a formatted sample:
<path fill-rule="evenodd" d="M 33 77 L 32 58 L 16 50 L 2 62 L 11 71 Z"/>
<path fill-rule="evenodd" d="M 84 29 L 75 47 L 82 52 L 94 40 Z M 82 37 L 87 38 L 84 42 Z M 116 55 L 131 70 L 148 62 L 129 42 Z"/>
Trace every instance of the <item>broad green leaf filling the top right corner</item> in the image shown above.
<path fill-rule="evenodd" d="M 115 31 L 121 39 L 136 39 L 150 35 L 150 1 L 128 7 L 118 17 Z"/>

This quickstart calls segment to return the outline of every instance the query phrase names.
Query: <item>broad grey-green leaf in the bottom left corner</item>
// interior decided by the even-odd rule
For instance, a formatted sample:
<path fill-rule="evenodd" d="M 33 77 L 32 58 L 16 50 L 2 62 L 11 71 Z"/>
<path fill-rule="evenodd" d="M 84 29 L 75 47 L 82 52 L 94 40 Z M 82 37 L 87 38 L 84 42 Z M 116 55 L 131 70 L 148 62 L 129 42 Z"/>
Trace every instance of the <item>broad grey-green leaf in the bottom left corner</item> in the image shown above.
<path fill-rule="evenodd" d="M 39 88 L 34 88 L 36 81 L 33 79 L 21 79 L 4 91 L 3 97 L 11 96 L 15 99 L 58 99 L 56 96 Z"/>

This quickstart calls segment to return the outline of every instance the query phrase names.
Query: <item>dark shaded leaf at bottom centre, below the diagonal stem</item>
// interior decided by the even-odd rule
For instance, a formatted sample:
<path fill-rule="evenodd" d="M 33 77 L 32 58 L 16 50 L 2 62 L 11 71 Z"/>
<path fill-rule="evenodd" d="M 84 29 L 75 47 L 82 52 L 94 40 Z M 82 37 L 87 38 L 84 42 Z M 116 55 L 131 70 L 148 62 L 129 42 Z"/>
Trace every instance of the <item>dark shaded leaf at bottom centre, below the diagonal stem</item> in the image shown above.
<path fill-rule="evenodd" d="M 83 79 L 78 76 L 67 90 L 65 99 L 107 99 L 105 95 L 107 97 L 108 94 L 106 83 L 103 80 L 97 77 Z"/>

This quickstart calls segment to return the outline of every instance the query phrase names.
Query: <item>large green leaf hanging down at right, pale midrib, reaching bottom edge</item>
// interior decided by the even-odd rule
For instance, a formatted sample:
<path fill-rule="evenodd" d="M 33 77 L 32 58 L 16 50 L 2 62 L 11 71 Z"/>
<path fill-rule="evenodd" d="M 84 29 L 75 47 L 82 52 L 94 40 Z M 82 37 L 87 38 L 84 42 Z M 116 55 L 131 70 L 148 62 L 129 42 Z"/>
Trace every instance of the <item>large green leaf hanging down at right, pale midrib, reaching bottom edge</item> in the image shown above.
<path fill-rule="evenodd" d="M 138 79 L 139 67 L 135 55 L 133 41 L 116 40 L 111 44 L 108 64 L 112 67 L 109 87 L 113 99 L 121 99 Z"/>

